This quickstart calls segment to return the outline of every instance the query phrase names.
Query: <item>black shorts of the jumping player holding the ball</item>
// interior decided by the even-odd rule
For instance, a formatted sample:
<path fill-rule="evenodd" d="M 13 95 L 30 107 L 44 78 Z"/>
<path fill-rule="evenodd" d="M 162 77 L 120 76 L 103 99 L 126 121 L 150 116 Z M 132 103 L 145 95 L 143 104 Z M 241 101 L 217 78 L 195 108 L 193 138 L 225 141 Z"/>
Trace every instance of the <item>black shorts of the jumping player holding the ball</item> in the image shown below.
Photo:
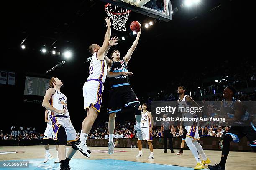
<path fill-rule="evenodd" d="M 109 93 L 108 113 L 119 112 L 125 106 L 139 102 L 133 89 L 129 85 L 113 87 Z"/>

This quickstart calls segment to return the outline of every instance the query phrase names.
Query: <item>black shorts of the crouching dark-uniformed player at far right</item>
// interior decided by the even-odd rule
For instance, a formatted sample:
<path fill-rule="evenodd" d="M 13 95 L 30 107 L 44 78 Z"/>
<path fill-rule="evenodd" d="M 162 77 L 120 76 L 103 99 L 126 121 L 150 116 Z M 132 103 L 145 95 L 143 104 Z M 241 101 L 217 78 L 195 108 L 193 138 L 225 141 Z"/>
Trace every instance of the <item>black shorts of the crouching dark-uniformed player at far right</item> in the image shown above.
<path fill-rule="evenodd" d="M 234 142 L 239 142 L 243 136 L 250 141 L 251 147 L 256 147 L 256 126 L 232 126 L 228 133 L 236 137 Z"/>

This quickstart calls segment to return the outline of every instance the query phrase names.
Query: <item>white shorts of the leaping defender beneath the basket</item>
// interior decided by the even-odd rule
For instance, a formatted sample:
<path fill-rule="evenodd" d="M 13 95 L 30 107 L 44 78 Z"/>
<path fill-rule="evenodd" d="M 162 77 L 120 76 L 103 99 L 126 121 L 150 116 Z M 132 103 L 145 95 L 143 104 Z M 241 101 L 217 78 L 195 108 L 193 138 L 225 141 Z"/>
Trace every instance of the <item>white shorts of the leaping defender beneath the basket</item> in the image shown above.
<path fill-rule="evenodd" d="M 83 86 L 84 108 L 92 106 L 95 110 L 100 112 L 103 90 L 104 86 L 100 80 L 85 82 Z"/>

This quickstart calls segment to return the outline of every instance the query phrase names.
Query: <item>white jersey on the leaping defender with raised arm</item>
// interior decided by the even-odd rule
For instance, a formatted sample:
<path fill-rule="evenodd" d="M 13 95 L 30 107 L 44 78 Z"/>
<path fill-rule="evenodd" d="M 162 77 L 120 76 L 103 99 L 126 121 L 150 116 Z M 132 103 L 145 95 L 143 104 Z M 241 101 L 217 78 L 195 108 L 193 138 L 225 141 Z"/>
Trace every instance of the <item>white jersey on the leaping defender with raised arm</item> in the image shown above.
<path fill-rule="evenodd" d="M 89 66 L 89 77 L 87 78 L 87 80 L 98 79 L 104 83 L 106 80 L 106 76 L 107 76 L 106 60 L 105 60 L 105 58 L 104 58 L 104 61 L 98 60 L 97 52 L 95 52 L 92 55 L 92 60 L 90 62 L 90 66 Z"/>

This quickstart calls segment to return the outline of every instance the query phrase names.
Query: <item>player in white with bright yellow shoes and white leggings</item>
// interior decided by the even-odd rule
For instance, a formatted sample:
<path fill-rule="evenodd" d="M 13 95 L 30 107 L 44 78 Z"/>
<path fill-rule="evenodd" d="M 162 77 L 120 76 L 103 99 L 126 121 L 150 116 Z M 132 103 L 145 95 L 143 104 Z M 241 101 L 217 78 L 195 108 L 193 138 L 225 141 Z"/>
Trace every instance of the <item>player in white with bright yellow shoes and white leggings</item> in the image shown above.
<path fill-rule="evenodd" d="M 179 86 L 177 93 L 179 95 L 178 99 L 178 106 L 179 108 L 190 108 L 190 107 L 197 107 L 199 108 L 200 106 L 188 95 L 185 95 L 186 88 L 184 86 Z M 187 109 L 185 109 L 187 110 Z M 195 117 L 197 115 L 192 115 L 190 112 L 182 112 L 182 117 Z M 187 129 L 187 135 L 186 135 L 186 143 L 189 149 L 191 150 L 192 154 L 194 155 L 197 165 L 194 167 L 195 170 L 200 170 L 204 169 L 205 164 L 209 164 L 211 161 L 206 157 L 205 152 L 202 149 L 202 146 L 200 143 L 197 142 L 197 140 L 200 140 L 199 134 L 198 134 L 198 125 L 197 122 L 195 124 L 192 124 L 192 122 L 184 122 L 184 125 L 186 125 Z M 182 126 L 182 124 L 181 124 Z M 200 153 L 202 156 L 203 161 L 200 160 L 200 157 L 197 153 L 197 151 Z"/>

